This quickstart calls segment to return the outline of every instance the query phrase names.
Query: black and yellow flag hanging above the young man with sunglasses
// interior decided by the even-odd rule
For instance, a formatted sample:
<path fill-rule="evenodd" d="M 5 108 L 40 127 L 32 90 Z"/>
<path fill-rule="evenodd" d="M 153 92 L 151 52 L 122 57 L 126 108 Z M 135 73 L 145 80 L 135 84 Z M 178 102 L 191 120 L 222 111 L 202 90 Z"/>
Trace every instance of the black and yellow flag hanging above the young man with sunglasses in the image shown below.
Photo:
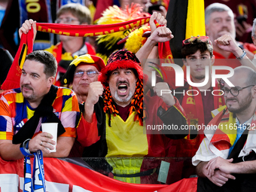
<path fill-rule="evenodd" d="M 160 50 L 160 58 L 181 59 L 182 41 L 192 35 L 206 35 L 203 0 L 171 0 L 166 15 L 167 27 L 174 38 Z"/>

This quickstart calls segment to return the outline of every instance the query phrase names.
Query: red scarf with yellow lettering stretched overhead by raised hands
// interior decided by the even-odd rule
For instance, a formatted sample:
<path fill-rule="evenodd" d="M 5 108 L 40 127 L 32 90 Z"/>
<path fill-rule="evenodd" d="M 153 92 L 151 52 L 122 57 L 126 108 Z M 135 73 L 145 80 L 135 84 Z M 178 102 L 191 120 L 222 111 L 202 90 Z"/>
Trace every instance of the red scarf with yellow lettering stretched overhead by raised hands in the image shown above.
<path fill-rule="evenodd" d="M 137 18 L 122 23 L 108 25 L 66 25 L 57 23 L 36 23 L 38 31 L 50 32 L 58 35 L 69 35 L 88 37 L 96 35 L 106 35 L 112 32 L 120 32 L 126 29 L 133 29 L 149 22 L 150 17 Z M 25 56 L 32 52 L 33 32 L 29 30 L 28 34 L 23 34 L 20 40 L 20 47 L 14 57 L 14 62 L 5 82 L 2 84 L 2 90 L 10 90 L 20 87 L 20 75 Z"/>

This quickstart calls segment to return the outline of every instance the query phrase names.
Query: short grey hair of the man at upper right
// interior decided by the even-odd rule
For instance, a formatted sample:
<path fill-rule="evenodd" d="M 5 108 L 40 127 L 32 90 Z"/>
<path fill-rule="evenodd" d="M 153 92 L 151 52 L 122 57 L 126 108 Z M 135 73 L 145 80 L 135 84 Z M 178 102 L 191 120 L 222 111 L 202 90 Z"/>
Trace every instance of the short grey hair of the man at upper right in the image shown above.
<path fill-rule="evenodd" d="M 224 12 L 227 11 L 231 17 L 234 17 L 233 11 L 227 6 L 222 3 L 212 3 L 206 8 L 205 11 L 205 21 L 206 25 L 209 23 L 210 16 L 213 12 Z"/>

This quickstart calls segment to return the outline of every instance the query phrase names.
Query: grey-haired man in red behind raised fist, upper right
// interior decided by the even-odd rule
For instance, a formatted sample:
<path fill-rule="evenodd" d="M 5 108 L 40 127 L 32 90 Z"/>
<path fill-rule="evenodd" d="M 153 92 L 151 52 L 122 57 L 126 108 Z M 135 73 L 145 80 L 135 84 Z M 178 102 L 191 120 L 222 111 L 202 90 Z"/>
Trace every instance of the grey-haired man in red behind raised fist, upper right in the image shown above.
<path fill-rule="evenodd" d="M 227 5 L 221 3 L 213 3 L 206 8 L 206 35 L 210 40 L 214 42 L 216 39 L 223 35 L 230 35 L 233 39 L 236 38 L 236 28 L 234 23 L 233 11 L 227 7 Z M 239 56 L 235 56 L 227 50 L 221 49 L 217 44 L 213 44 L 213 54 L 217 59 L 215 66 L 230 66 L 233 69 L 237 66 L 241 66 L 236 58 L 245 56 L 247 54 L 249 59 L 254 58 L 256 53 L 256 47 L 254 44 L 236 42 L 243 50 L 243 53 Z M 232 59 L 232 60 L 229 60 Z M 226 70 L 218 70 L 218 74 L 227 74 Z"/>

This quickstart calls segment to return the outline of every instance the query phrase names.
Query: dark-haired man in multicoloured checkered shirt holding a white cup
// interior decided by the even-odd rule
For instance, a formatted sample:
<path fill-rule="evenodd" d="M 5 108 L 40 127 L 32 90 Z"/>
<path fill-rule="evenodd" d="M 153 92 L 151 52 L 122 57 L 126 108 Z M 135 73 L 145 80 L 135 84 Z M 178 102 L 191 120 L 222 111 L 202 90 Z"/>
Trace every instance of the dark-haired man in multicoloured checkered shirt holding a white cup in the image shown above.
<path fill-rule="evenodd" d="M 38 50 L 26 56 L 20 88 L 6 90 L 0 99 L 0 156 L 19 160 L 41 150 L 44 157 L 67 157 L 75 142 L 78 99 L 72 90 L 53 86 L 57 63 Z M 41 133 L 41 123 L 58 123 L 57 142 Z M 56 152 L 50 153 L 47 149 Z"/>

